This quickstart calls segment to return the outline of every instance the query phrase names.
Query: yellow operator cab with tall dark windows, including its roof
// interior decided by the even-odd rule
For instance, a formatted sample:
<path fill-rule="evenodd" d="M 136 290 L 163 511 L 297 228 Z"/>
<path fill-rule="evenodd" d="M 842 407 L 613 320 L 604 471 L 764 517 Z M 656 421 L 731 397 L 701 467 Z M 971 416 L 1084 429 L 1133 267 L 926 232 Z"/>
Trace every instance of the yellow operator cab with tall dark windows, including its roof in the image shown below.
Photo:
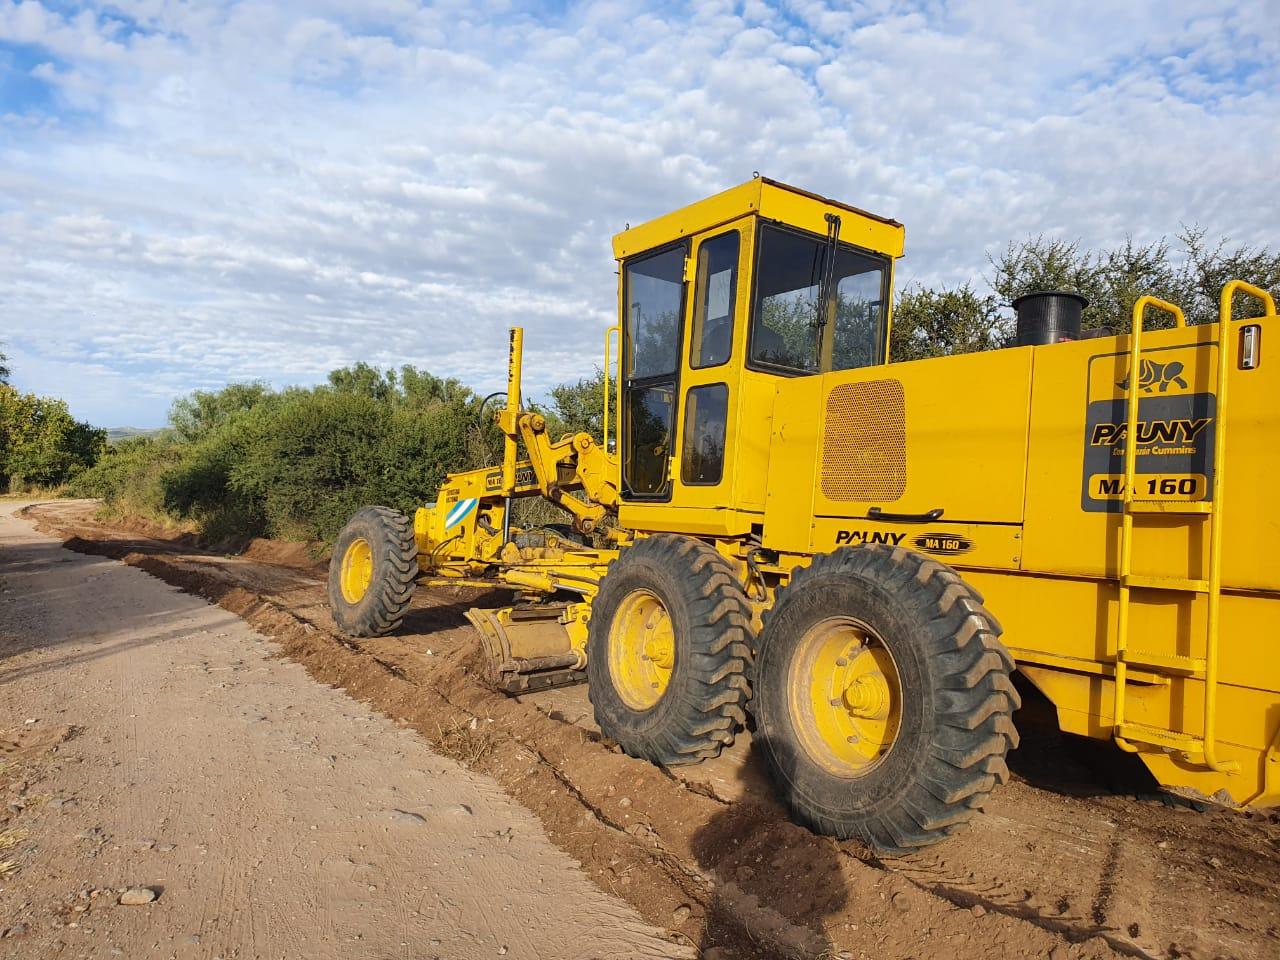
<path fill-rule="evenodd" d="M 758 178 L 613 246 L 620 520 L 748 532 L 764 511 L 776 384 L 887 362 L 902 227 Z"/>

